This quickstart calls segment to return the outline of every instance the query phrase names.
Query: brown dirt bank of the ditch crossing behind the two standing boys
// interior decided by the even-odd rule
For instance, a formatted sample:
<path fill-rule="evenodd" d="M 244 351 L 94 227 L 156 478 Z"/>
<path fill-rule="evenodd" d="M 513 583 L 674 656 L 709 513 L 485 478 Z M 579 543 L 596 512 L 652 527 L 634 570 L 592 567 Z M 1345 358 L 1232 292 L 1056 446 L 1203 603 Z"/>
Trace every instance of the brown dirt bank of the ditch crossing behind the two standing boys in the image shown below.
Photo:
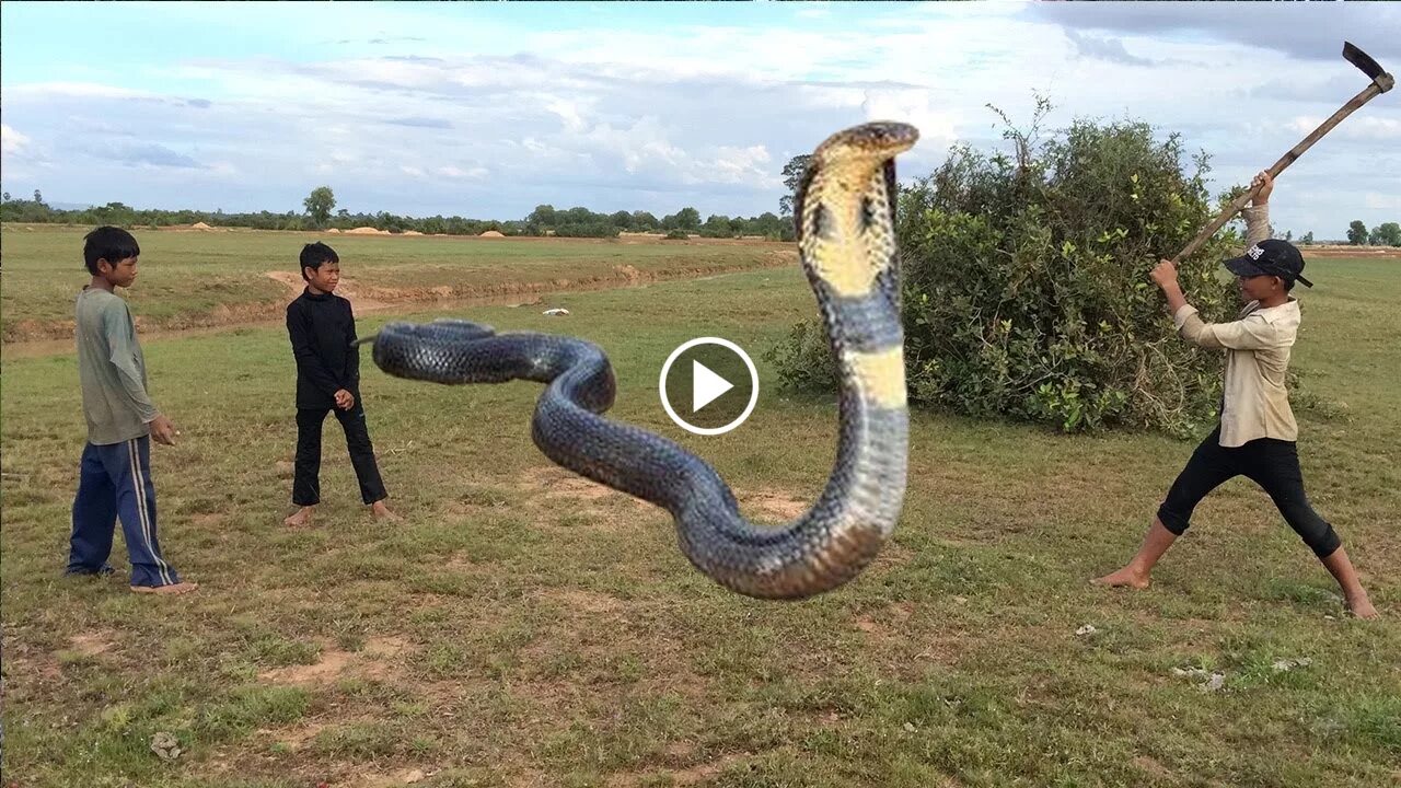
<path fill-rule="evenodd" d="M 340 280 L 336 293 L 349 299 L 356 313 L 408 311 L 426 306 L 527 306 L 539 303 L 539 297 L 546 293 L 642 287 L 653 282 L 700 279 L 764 268 L 785 268 L 796 264 L 796 252 L 775 251 L 766 255 L 758 265 L 698 265 L 656 273 L 622 264 L 614 265 L 607 273 L 590 276 L 499 282 L 493 285 L 467 282 L 434 287 L 388 287 L 366 285 L 346 278 Z M 283 297 L 268 301 L 219 304 L 206 313 L 178 314 L 158 321 L 137 315 L 136 327 L 146 337 L 160 337 L 277 321 L 282 318 L 287 303 L 301 293 L 304 283 L 300 276 L 286 271 L 269 271 L 265 276 L 286 286 Z M 63 352 L 71 349 L 69 346 L 71 342 L 71 320 L 21 320 L 4 327 L 4 352 L 7 355 Z"/>

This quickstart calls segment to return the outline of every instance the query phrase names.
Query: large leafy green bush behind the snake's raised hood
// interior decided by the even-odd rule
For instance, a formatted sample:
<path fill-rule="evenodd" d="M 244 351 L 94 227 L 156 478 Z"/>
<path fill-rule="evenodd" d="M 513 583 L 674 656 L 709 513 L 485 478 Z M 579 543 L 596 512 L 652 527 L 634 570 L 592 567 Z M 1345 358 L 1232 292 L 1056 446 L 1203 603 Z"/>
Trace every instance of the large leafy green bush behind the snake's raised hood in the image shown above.
<path fill-rule="evenodd" d="M 1048 111 L 1040 100 L 1030 132 L 1009 123 L 1014 154 L 955 146 L 901 189 L 911 401 L 1068 432 L 1199 433 L 1216 418 L 1223 359 L 1177 337 L 1147 273 L 1224 205 L 1208 196 L 1206 157 L 1185 172 L 1181 139 L 1133 121 L 1076 121 L 1038 142 Z M 1238 308 L 1220 266 L 1238 245 L 1234 230 L 1217 234 L 1178 266 L 1206 320 Z M 835 388 L 815 321 L 769 358 L 787 386 Z"/>

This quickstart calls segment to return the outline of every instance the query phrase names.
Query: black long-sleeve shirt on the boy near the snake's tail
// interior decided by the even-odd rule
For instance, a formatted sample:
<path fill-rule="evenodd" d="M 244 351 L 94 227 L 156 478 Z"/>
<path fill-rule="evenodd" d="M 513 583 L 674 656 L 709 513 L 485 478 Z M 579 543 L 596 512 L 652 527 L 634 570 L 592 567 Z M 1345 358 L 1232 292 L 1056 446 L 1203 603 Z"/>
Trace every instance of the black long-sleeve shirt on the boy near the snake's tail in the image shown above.
<path fill-rule="evenodd" d="M 345 388 L 360 398 L 360 349 L 353 346 L 350 301 L 303 290 L 287 304 L 287 335 L 297 359 L 297 407 L 331 408 Z"/>

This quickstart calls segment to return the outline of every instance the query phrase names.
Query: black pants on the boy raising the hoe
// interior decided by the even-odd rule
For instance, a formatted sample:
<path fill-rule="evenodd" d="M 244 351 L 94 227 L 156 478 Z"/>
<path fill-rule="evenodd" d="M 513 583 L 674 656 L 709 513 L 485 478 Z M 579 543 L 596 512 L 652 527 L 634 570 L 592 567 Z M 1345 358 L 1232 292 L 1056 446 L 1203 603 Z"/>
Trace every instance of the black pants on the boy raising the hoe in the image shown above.
<path fill-rule="evenodd" d="M 1299 468 L 1295 442 L 1259 437 L 1227 449 L 1220 444 L 1220 426 L 1192 453 L 1192 458 L 1167 491 L 1157 519 L 1167 530 L 1182 536 L 1192 509 L 1202 498 L 1237 475 L 1254 481 L 1269 494 L 1289 527 L 1295 529 L 1314 555 L 1327 558 L 1342 545 L 1332 526 L 1314 512 L 1304 496 L 1304 475 Z"/>

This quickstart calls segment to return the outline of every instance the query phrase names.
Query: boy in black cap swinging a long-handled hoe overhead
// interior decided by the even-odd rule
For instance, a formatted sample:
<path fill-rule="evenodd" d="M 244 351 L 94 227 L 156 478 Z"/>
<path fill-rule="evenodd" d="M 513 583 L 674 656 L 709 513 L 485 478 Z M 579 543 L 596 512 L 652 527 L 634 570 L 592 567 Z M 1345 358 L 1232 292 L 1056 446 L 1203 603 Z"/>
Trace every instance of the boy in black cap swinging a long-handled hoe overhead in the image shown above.
<path fill-rule="evenodd" d="M 1192 453 L 1132 561 L 1118 572 L 1094 582 L 1105 586 L 1146 589 L 1159 558 L 1187 531 L 1192 509 L 1215 488 L 1244 475 L 1275 502 L 1289 526 L 1313 550 L 1338 580 L 1348 610 L 1359 618 L 1374 618 L 1376 607 L 1358 580 L 1342 540 L 1304 495 L 1296 440 L 1299 425 L 1289 408 L 1285 374 L 1289 351 L 1299 334 L 1299 301 L 1289 294 L 1296 283 L 1313 287 L 1303 275 L 1304 259 L 1289 241 L 1269 238 L 1269 193 L 1275 175 L 1359 107 L 1391 90 L 1395 80 L 1376 60 L 1352 43 L 1342 56 L 1362 69 L 1372 84 L 1311 135 L 1286 153 L 1274 167 L 1255 175 L 1250 189 L 1227 206 L 1171 261 L 1153 268 L 1152 278 L 1167 297 L 1178 332 L 1184 339 L 1209 349 L 1226 351 L 1226 386 L 1220 423 Z M 1250 202 L 1250 208 L 1245 203 Z M 1231 322 L 1205 322 L 1187 303 L 1177 282 L 1177 262 L 1195 252 L 1220 227 L 1244 210 L 1247 250 L 1226 261 L 1236 275 L 1245 307 Z"/>

